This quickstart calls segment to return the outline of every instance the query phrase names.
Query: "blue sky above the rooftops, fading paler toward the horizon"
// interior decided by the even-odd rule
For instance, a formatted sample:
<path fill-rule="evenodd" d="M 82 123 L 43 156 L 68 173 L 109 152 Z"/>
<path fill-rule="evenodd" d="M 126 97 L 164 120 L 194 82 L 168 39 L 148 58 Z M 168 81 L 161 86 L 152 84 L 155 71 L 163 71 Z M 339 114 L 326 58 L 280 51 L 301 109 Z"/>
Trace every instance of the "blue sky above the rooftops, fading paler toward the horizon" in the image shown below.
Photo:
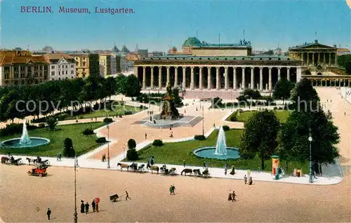
<path fill-rule="evenodd" d="M 351 48 L 351 9 L 345 0 L 0 1 L 0 48 L 97 50 L 116 43 L 119 49 L 138 44 L 166 51 L 180 49 L 190 36 L 208 43 L 246 39 L 253 50 L 286 50 L 314 39 Z M 21 6 L 51 6 L 53 13 L 21 13 Z M 91 13 L 59 13 L 60 6 Z M 134 13 L 95 13 L 95 7 Z"/>

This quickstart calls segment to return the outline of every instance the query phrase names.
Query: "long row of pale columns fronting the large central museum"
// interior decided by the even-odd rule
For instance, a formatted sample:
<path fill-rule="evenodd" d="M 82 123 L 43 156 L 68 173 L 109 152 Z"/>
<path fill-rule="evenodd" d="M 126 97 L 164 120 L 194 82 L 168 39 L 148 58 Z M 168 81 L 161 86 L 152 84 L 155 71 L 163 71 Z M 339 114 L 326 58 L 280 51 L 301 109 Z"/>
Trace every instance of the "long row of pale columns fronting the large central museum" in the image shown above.
<path fill-rule="evenodd" d="M 134 69 L 143 89 L 162 89 L 171 83 L 173 87 L 190 90 L 272 90 L 282 76 L 293 82 L 301 76 L 300 67 L 154 65 Z"/>

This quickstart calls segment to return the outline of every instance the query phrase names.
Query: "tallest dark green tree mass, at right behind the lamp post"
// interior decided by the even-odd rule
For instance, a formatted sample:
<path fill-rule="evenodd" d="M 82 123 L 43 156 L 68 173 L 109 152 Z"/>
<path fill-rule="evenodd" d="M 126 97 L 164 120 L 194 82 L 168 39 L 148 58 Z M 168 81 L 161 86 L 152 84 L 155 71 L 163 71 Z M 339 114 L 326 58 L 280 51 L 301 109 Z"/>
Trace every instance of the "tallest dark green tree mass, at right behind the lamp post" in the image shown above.
<path fill-rule="evenodd" d="M 279 154 L 286 160 L 305 162 L 310 159 L 309 134 L 312 135 L 312 161 L 333 163 L 338 157 L 335 145 L 339 142 L 338 128 L 324 113 L 319 96 L 310 81 L 303 79 L 291 93 L 298 106 L 279 133 Z"/>

